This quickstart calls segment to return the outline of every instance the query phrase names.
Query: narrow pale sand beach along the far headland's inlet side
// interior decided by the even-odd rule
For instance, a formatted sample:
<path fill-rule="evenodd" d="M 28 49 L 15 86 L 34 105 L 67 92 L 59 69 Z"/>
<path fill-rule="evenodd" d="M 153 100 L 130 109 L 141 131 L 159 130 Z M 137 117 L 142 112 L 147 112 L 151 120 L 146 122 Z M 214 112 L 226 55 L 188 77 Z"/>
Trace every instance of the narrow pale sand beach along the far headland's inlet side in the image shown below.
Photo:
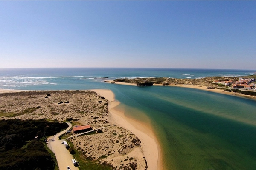
<path fill-rule="evenodd" d="M 113 81 L 105 81 L 105 82 L 106 83 L 111 83 Z M 117 84 L 117 85 L 137 86 L 135 83 L 128 83 L 128 82 L 115 82 L 115 84 Z M 153 86 L 163 86 L 163 85 L 161 85 L 161 84 L 154 84 Z M 214 93 L 227 94 L 227 95 L 231 95 L 231 96 L 245 97 L 247 99 L 256 100 L 256 96 L 239 94 L 239 93 L 236 93 L 236 92 L 228 92 L 228 91 L 224 91 L 222 89 L 217 89 L 217 88 L 215 88 L 215 89 L 207 89 L 207 86 L 205 86 L 205 85 L 167 85 L 167 87 L 194 88 L 194 89 L 199 89 L 199 90 L 204 90 L 204 91 L 211 91 L 211 92 L 214 92 Z"/>

